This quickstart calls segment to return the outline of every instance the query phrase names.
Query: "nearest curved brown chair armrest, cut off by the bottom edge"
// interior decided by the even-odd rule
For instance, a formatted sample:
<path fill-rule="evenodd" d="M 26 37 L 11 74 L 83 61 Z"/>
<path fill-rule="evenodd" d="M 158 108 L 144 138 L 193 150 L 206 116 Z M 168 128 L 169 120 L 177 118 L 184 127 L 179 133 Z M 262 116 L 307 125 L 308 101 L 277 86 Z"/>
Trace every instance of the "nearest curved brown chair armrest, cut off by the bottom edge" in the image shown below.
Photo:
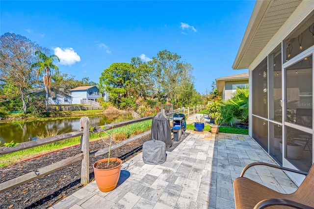
<path fill-rule="evenodd" d="M 287 199 L 266 199 L 259 202 L 254 209 L 264 209 L 269 206 L 289 206 L 295 209 L 314 209 L 313 207 Z"/>

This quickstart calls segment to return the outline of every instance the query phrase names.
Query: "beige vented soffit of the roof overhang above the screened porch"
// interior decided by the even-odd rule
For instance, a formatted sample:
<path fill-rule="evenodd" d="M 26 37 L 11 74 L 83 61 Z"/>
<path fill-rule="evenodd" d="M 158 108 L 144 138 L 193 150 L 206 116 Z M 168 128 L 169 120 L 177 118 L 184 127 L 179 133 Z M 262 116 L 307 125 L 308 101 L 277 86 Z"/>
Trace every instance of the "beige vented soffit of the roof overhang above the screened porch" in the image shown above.
<path fill-rule="evenodd" d="M 257 0 L 233 69 L 249 68 L 302 0 Z"/>

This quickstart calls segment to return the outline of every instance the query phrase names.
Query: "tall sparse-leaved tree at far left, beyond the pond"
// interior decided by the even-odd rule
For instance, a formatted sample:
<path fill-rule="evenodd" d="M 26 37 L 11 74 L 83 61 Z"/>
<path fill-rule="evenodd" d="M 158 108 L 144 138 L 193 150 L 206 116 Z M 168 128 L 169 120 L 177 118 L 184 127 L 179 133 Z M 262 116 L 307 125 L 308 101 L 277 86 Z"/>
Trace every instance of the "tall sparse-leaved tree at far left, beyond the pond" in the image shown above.
<path fill-rule="evenodd" d="M 36 85 L 36 71 L 31 68 L 31 65 L 38 61 L 34 54 L 38 50 L 46 51 L 25 36 L 15 33 L 4 33 L 0 36 L 0 85 L 6 83 L 7 87 L 17 88 L 24 113 L 29 102 L 28 90 Z M 1 99 L 8 100 L 16 96 L 6 94 L 2 95 Z"/>

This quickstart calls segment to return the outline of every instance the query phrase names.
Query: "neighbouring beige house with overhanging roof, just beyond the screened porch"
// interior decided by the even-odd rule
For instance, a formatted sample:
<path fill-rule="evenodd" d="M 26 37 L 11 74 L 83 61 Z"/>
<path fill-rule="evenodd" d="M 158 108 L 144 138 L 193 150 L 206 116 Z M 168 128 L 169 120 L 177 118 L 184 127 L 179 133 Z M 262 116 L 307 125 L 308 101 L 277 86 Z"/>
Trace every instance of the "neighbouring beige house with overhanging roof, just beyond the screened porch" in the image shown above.
<path fill-rule="evenodd" d="M 223 100 L 229 100 L 235 93 L 235 87 L 248 86 L 249 73 L 241 73 L 232 76 L 216 78 L 218 96 Z"/>

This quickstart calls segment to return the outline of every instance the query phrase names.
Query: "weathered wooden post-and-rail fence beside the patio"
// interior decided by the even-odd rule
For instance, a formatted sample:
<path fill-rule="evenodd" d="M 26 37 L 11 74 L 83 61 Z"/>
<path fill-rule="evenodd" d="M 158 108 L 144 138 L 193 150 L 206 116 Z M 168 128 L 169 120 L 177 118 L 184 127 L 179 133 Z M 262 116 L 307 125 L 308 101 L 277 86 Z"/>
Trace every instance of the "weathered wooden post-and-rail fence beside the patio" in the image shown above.
<path fill-rule="evenodd" d="M 138 123 L 141 121 L 146 121 L 152 119 L 154 116 L 150 117 L 145 117 L 145 118 L 140 118 L 140 119 L 134 119 L 134 120 L 129 120 L 129 121 L 124 121 L 124 122 L 119 122 L 119 123 L 113 123 L 113 124 L 107 124 L 101 127 L 95 127 L 93 132 L 101 132 L 101 131 L 107 131 L 110 129 L 115 129 L 118 127 L 130 125 L 133 123 Z M 101 149 L 97 152 L 89 153 L 89 119 L 88 117 L 82 117 L 80 119 L 80 129 L 81 131 L 75 131 L 75 132 L 70 132 L 70 133 L 64 133 L 56 136 L 51 136 L 48 138 L 40 139 L 40 140 L 34 140 L 34 141 L 28 141 L 28 142 L 23 142 L 18 144 L 15 147 L 0 147 L 0 156 L 6 155 L 9 153 L 14 153 L 17 151 L 21 150 L 26 150 L 32 147 L 37 147 L 45 144 L 49 144 L 52 142 L 60 141 L 60 140 L 65 140 L 69 138 L 74 138 L 77 136 L 80 136 L 80 146 L 81 146 L 81 153 L 69 157 L 60 161 L 57 161 L 51 165 L 38 168 L 34 171 L 31 171 L 27 174 L 24 174 L 22 176 L 16 177 L 14 179 L 8 180 L 6 182 L 0 183 L 0 193 L 7 191 L 11 188 L 17 187 L 23 183 L 30 182 L 34 179 L 37 179 L 39 177 L 42 177 L 44 175 L 48 175 L 54 171 L 60 170 L 66 166 L 69 166 L 75 162 L 78 162 L 81 160 L 81 183 L 89 183 L 89 157 L 94 157 L 94 156 L 100 156 L 108 153 L 108 148 Z M 122 145 L 125 145 L 135 139 L 138 139 L 144 135 L 149 134 L 151 131 L 145 131 L 139 135 L 133 136 L 127 140 L 124 140 L 118 144 L 115 144 L 111 147 L 111 150 L 117 149 L 121 147 Z"/>

